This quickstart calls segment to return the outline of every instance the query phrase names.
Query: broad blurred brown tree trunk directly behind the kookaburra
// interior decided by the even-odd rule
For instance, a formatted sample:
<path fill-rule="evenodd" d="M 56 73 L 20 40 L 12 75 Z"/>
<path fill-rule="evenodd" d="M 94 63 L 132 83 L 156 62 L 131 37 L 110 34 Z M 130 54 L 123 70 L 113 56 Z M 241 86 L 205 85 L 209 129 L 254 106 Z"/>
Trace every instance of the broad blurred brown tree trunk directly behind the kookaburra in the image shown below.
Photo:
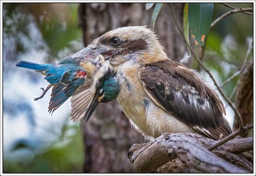
<path fill-rule="evenodd" d="M 183 4 L 172 4 L 180 23 Z M 151 27 L 153 8 L 146 11 L 144 3 L 83 3 L 79 4 L 79 26 L 84 46 L 103 33 L 122 26 Z M 168 6 L 164 5 L 155 24 L 160 42 L 169 58 L 183 58 L 186 45 L 174 25 Z M 190 62 L 188 62 L 190 64 Z M 131 128 L 129 120 L 116 101 L 100 105 L 93 117 L 82 124 L 85 163 L 84 172 L 134 172 L 127 152 L 134 143 L 143 143 L 143 136 Z"/>

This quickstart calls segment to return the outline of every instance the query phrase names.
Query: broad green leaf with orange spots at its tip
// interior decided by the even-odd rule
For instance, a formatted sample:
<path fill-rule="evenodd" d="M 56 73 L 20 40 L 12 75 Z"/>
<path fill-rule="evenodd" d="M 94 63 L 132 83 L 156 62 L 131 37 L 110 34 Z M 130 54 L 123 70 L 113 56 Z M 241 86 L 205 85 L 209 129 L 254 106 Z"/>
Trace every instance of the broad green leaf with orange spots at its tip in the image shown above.
<path fill-rule="evenodd" d="M 211 28 L 213 3 L 189 3 L 188 23 L 190 25 L 191 37 L 194 43 L 201 50 L 205 45 L 205 39 Z"/>

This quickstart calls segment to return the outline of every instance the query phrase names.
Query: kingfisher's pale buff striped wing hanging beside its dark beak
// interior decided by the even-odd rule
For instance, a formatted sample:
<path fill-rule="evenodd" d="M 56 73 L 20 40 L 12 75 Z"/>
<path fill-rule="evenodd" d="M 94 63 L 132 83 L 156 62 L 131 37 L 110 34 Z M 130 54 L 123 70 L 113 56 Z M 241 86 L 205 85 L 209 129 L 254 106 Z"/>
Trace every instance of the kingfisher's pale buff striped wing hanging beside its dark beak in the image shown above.
<path fill-rule="evenodd" d="M 84 85 L 72 95 L 71 98 L 71 120 L 78 121 L 84 117 L 87 106 L 91 101 L 90 87 L 92 85 L 92 79 L 86 78 Z"/>

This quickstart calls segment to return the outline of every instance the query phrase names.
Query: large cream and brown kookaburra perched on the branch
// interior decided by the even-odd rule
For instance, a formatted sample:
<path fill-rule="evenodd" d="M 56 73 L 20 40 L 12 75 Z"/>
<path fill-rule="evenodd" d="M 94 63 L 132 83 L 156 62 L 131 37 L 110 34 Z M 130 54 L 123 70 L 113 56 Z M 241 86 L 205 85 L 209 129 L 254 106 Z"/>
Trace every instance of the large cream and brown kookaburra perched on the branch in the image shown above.
<path fill-rule="evenodd" d="M 232 133 L 218 94 L 196 71 L 169 59 L 145 26 L 109 31 L 84 50 L 109 60 L 120 83 L 117 100 L 146 138 L 193 132 L 218 140 Z M 88 85 L 72 98 L 73 119 L 89 104 Z"/>

